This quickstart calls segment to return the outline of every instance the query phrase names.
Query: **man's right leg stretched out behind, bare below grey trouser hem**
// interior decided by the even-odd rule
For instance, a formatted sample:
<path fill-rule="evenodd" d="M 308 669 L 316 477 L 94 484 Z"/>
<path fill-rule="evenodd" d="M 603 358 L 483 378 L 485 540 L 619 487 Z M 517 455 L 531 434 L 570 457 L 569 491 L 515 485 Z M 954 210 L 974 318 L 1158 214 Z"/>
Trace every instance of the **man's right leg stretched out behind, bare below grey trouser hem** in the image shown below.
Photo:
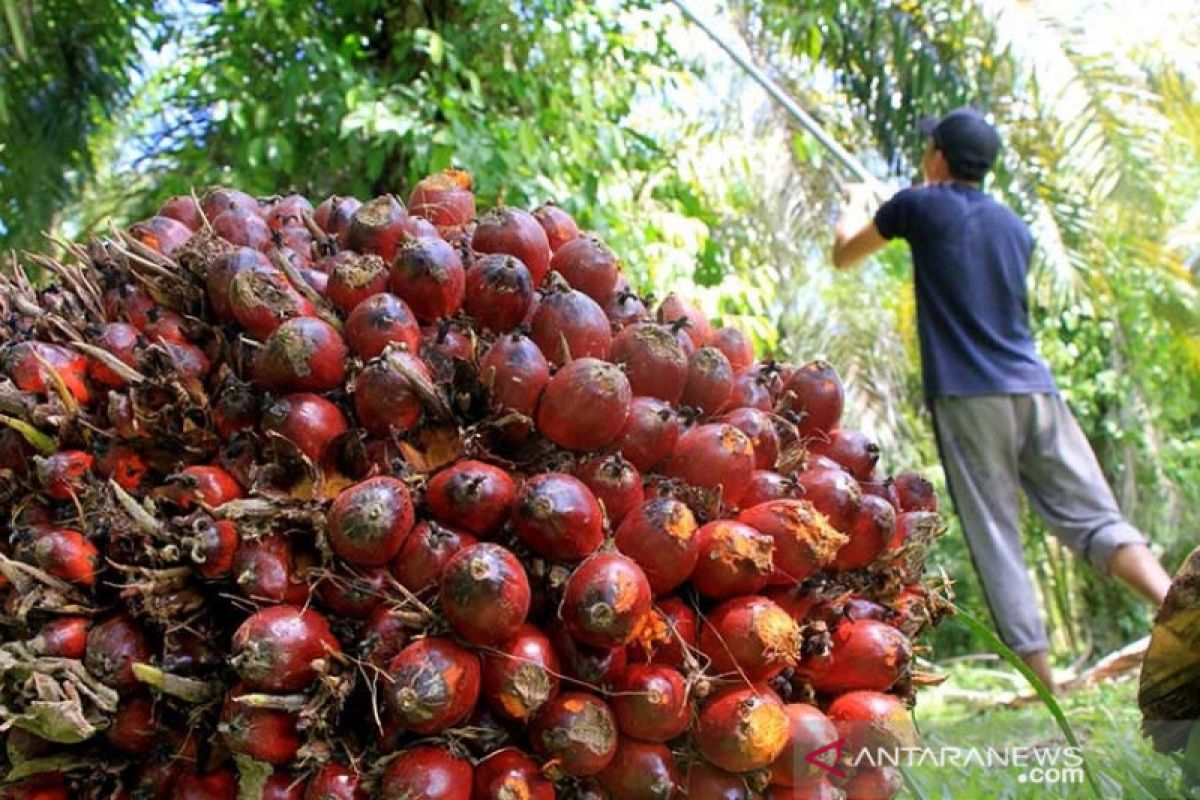
<path fill-rule="evenodd" d="M 1096 453 L 1066 402 L 1034 395 L 1021 483 L 1030 503 L 1068 548 L 1158 606 L 1171 579 L 1146 537 L 1121 515 Z"/>

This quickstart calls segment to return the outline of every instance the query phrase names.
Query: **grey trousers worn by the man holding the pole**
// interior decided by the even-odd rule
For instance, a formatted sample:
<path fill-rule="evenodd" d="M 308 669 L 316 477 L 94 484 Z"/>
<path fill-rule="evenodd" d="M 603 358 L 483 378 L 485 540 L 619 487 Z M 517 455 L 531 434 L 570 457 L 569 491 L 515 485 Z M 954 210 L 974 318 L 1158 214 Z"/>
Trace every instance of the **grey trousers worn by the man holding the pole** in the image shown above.
<path fill-rule="evenodd" d="M 1049 646 L 1021 552 L 1018 489 L 1073 553 L 1102 572 L 1146 537 L 1117 509 L 1096 453 L 1058 395 L 935 397 L 934 429 L 967 548 L 1001 638 Z"/>

